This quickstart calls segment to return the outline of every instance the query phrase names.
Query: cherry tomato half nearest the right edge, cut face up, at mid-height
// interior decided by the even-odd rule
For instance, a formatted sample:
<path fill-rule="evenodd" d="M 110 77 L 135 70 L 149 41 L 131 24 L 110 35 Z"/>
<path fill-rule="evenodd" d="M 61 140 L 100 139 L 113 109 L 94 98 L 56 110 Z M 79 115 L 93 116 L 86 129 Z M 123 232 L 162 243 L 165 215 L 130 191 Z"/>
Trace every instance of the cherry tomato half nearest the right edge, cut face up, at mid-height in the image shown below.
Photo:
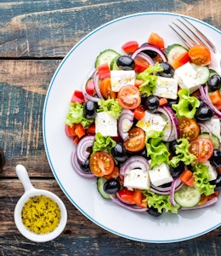
<path fill-rule="evenodd" d="M 196 162 L 203 162 L 212 156 L 213 153 L 212 142 L 207 138 L 198 138 L 190 142 L 189 151 L 194 154 Z"/>

